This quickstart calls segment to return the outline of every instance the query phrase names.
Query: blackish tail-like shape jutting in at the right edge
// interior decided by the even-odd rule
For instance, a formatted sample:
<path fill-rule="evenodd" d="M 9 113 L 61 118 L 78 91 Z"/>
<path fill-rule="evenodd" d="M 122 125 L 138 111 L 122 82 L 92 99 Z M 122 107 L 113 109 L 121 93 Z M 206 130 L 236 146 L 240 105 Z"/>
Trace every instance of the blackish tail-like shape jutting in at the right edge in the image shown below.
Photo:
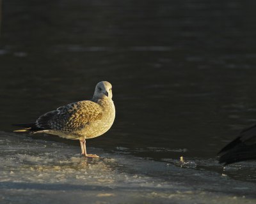
<path fill-rule="evenodd" d="M 239 136 L 218 153 L 224 165 L 256 159 L 256 125 L 241 131 Z"/>

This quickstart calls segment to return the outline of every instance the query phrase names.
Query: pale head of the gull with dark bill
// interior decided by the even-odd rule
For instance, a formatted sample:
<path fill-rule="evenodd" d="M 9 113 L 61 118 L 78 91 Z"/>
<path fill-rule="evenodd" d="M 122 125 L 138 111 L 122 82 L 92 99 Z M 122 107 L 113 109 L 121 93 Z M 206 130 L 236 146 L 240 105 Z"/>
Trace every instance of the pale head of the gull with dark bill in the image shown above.
<path fill-rule="evenodd" d="M 102 81 L 96 85 L 93 98 L 111 99 L 112 96 L 112 85 L 109 82 Z"/>

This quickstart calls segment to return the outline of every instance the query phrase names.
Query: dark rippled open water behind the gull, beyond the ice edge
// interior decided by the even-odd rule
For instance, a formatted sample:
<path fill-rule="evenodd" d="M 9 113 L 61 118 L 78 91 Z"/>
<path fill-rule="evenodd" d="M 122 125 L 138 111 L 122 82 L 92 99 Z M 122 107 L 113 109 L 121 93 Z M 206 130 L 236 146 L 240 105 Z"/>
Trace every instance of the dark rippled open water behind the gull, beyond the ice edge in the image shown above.
<path fill-rule="evenodd" d="M 116 120 L 88 141 L 106 152 L 195 161 L 256 123 L 255 1 L 3 1 L 0 129 L 113 84 Z M 78 142 L 55 136 L 36 139 Z M 226 173 L 255 182 L 256 163 Z"/>

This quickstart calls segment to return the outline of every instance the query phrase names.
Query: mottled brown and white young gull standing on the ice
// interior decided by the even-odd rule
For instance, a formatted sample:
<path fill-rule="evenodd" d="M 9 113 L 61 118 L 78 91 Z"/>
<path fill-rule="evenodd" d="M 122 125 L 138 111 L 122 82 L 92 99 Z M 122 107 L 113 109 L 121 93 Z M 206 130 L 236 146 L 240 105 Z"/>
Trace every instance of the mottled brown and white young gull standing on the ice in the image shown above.
<path fill-rule="evenodd" d="M 112 96 L 112 85 L 106 81 L 99 82 L 91 100 L 61 106 L 57 110 L 41 115 L 33 123 L 13 124 L 24 127 L 15 132 L 47 133 L 79 140 L 84 156 L 98 157 L 86 153 L 85 141 L 100 136 L 111 128 L 115 120 Z"/>

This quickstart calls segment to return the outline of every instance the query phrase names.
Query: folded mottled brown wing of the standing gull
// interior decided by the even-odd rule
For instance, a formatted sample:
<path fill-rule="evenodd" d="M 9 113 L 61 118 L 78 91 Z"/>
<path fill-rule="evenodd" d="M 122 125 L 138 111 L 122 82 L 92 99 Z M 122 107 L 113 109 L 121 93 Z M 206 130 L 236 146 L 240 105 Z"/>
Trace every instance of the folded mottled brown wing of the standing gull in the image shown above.
<path fill-rule="evenodd" d="M 102 118 L 102 108 L 93 101 L 70 103 L 47 112 L 36 120 L 36 126 L 41 129 L 57 131 L 77 131 L 95 120 Z"/>

